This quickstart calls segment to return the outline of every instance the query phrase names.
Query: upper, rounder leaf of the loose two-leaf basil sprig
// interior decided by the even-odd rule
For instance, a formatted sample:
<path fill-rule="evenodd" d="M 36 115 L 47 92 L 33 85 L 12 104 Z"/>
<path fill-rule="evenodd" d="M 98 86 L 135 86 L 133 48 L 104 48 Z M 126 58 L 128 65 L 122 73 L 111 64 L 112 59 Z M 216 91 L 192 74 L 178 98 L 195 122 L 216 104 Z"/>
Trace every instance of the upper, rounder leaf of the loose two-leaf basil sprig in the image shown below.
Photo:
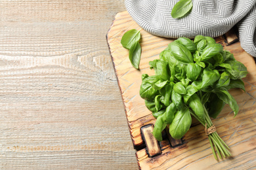
<path fill-rule="evenodd" d="M 140 31 L 138 31 L 137 29 L 131 29 L 123 35 L 121 39 L 121 44 L 123 48 L 130 49 L 131 46 L 133 46 L 135 42 L 139 42 L 139 40 L 140 40 Z"/>

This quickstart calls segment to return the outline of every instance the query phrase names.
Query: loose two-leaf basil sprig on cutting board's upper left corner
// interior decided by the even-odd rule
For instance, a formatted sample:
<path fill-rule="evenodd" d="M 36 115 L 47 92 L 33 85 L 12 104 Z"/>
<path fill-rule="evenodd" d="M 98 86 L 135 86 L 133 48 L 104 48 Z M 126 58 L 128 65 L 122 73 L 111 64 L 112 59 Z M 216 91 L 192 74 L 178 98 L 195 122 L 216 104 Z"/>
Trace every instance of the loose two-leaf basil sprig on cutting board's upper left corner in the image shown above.
<path fill-rule="evenodd" d="M 129 59 L 131 61 L 131 65 L 133 65 L 135 69 L 139 69 L 140 64 L 141 46 L 139 41 L 140 30 L 138 31 L 137 29 L 127 31 L 121 39 L 123 48 L 129 50 Z"/>

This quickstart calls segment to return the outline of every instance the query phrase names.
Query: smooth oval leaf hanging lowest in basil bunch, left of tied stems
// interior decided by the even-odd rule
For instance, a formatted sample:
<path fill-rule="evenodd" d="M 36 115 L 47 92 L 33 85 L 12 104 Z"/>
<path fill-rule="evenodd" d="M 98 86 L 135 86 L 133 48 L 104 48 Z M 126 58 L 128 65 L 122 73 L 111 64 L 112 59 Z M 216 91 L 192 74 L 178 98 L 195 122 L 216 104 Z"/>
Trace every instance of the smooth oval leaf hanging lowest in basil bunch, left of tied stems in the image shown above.
<path fill-rule="evenodd" d="M 191 126 L 192 118 L 188 108 L 178 110 L 175 114 L 173 122 L 169 126 L 169 133 L 173 139 L 181 139 Z"/>

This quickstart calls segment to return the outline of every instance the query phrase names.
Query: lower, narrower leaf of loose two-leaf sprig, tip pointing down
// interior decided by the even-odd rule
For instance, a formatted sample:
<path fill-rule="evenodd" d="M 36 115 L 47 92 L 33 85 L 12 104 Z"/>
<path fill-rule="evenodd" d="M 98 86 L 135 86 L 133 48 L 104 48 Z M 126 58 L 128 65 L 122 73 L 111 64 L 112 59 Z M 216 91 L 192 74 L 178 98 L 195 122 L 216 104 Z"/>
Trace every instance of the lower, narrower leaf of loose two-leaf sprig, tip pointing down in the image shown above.
<path fill-rule="evenodd" d="M 133 44 L 129 50 L 129 59 L 131 61 L 131 65 L 135 67 L 135 69 L 139 69 L 140 64 L 140 55 L 141 55 L 141 47 L 140 43 L 137 41 Z"/>

